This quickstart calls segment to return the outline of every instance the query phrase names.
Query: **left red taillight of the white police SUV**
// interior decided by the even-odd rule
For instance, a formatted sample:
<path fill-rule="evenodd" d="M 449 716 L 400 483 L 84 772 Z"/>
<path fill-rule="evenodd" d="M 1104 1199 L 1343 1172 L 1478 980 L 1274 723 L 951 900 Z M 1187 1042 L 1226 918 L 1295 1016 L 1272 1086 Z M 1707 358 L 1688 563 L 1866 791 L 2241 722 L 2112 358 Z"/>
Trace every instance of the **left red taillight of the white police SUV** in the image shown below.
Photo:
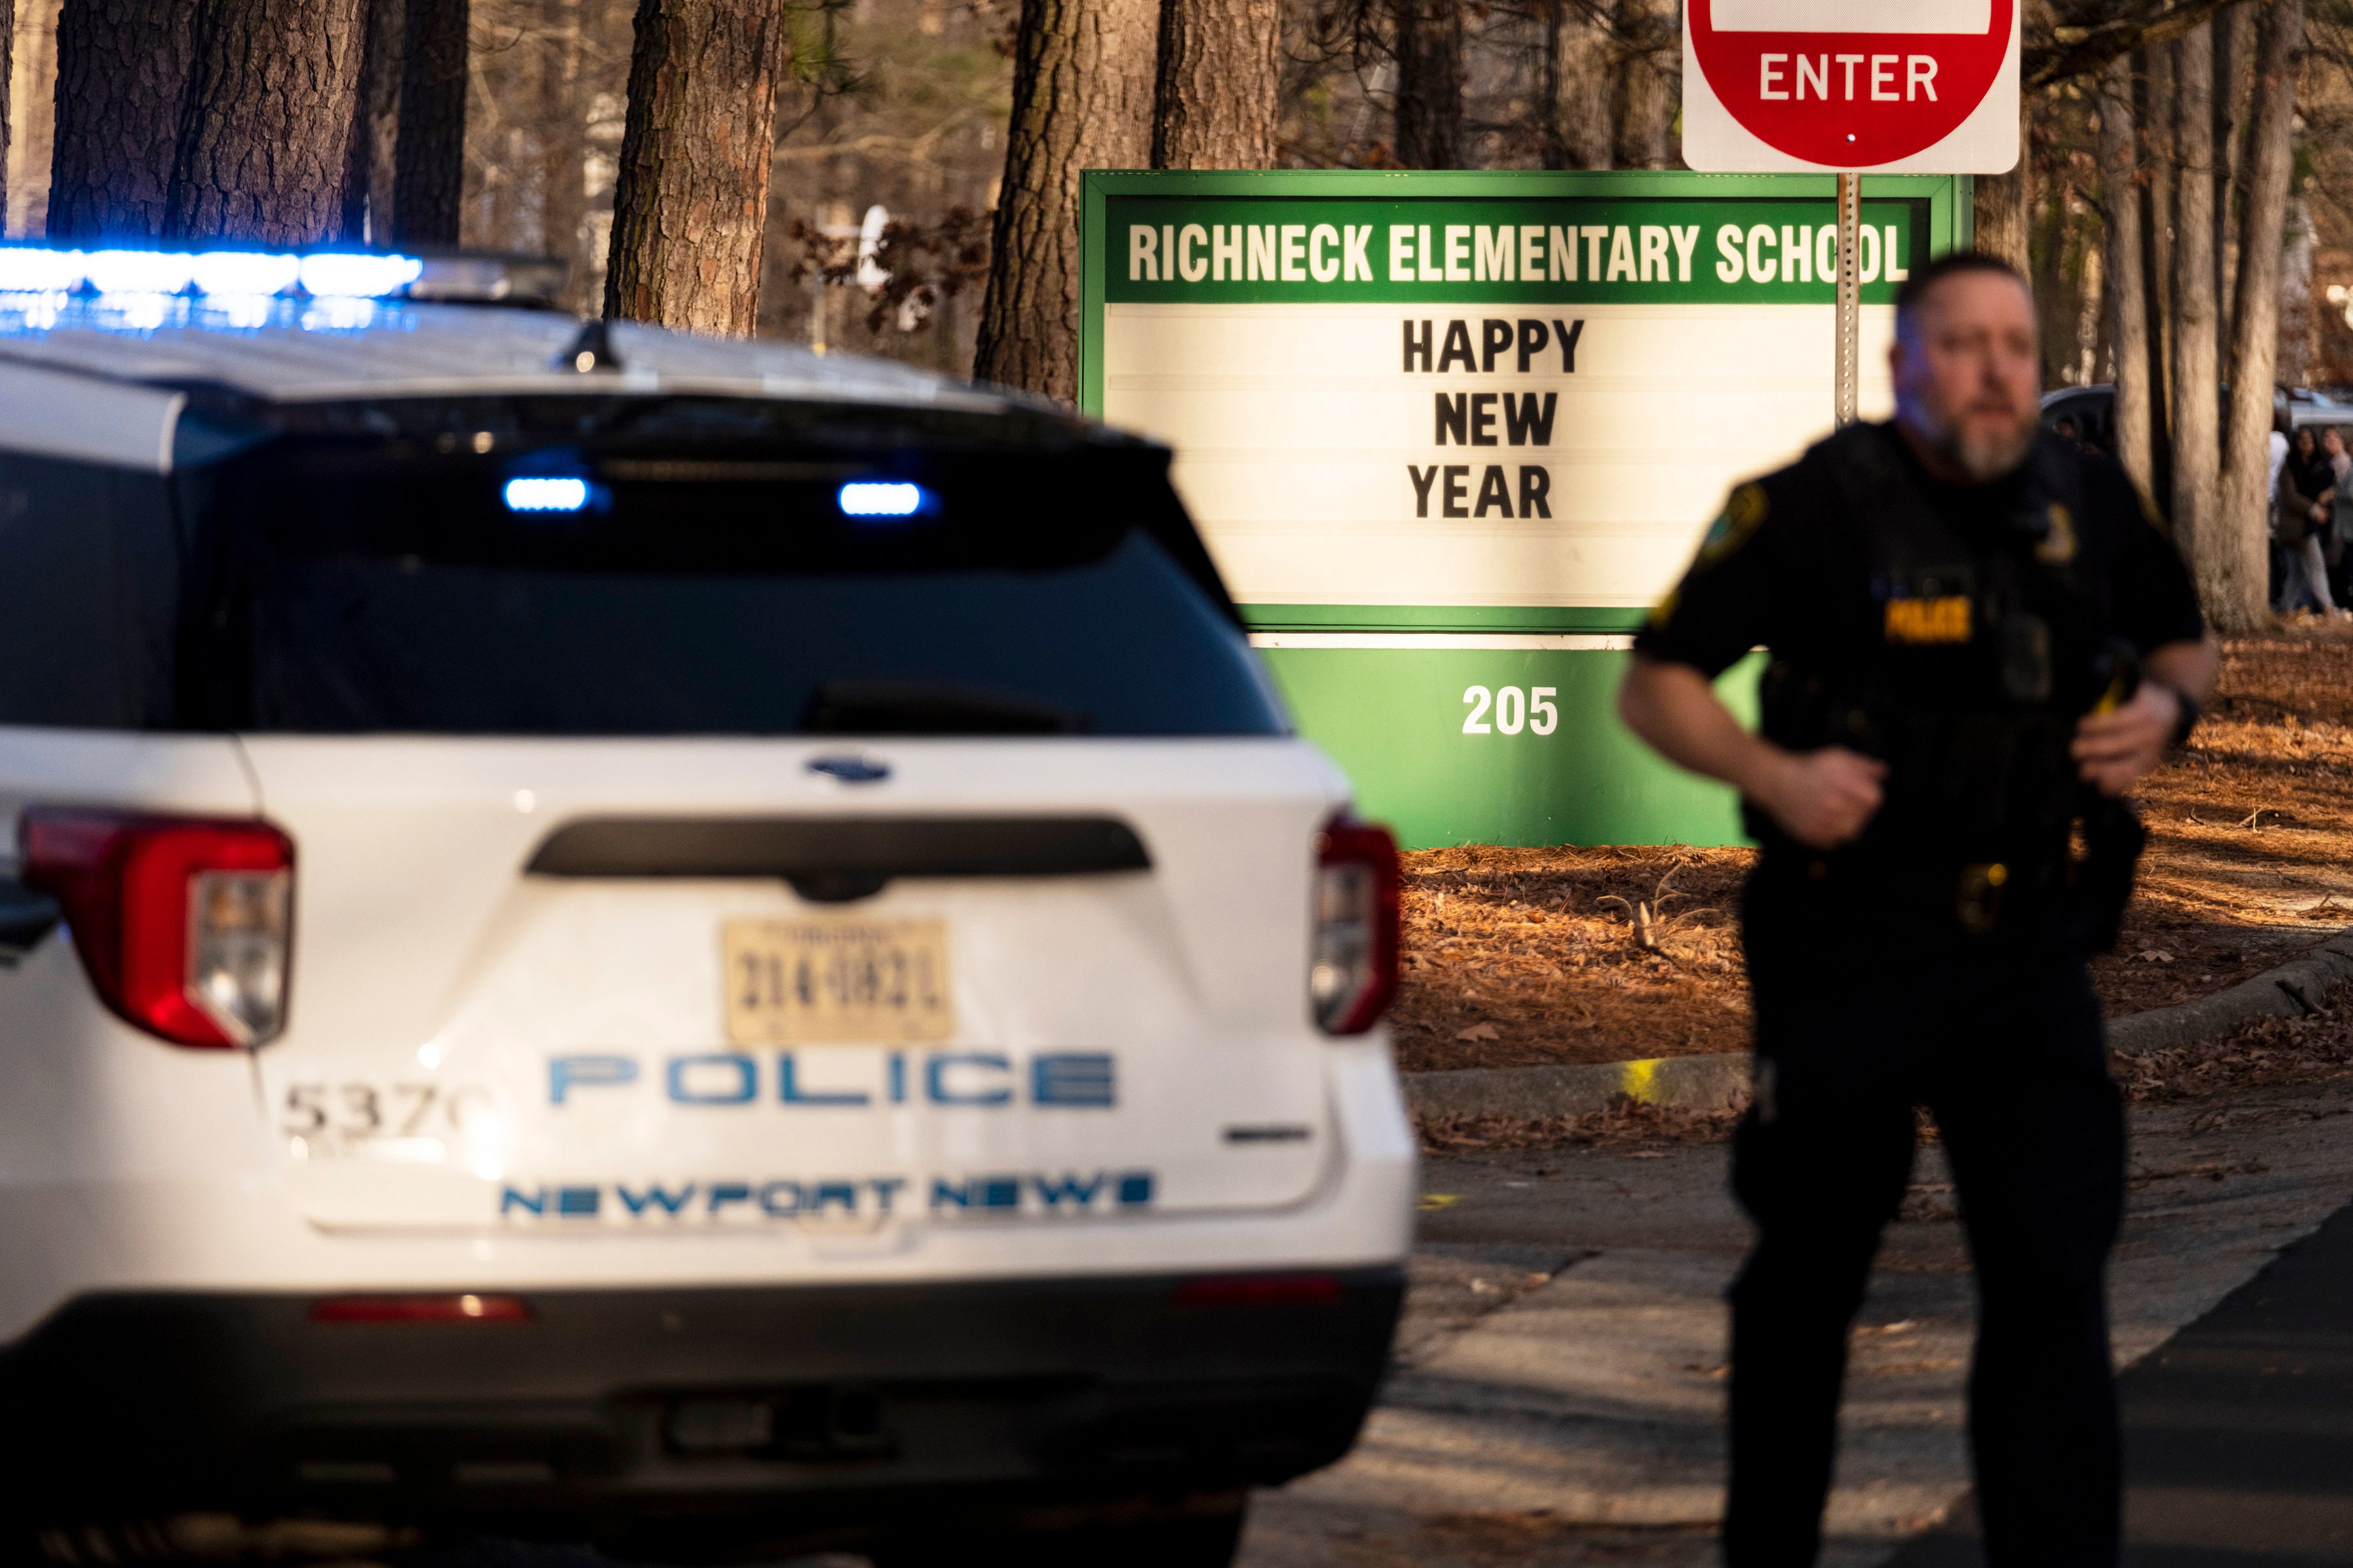
<path fill-rule="evenodd" d="M 268 823 L 31 806 L 21 877 L 66 914 L 108 1009 L 176 1046 L 285 1027 L 294 842 Z"/>

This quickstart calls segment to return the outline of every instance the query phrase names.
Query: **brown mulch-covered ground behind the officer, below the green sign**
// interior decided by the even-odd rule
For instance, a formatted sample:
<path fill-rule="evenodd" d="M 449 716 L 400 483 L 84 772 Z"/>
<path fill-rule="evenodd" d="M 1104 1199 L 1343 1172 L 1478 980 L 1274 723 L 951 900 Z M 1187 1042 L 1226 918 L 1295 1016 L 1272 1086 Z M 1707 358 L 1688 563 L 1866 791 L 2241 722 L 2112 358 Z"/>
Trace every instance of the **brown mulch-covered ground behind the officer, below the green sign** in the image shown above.
<path fill-rule="evenodd" d="M 2108 1016 L 2235 985 L 2353 924 L 2353 630 L 2224 644 L 2191 748 L 2139 792 L 2151 849 Z M 1748 1046 L 1746 849 L 1405 856 L 1398 1065 L 1617 1063 Z M 1640 945 L 1647 929 L 1657 950 Z"/>

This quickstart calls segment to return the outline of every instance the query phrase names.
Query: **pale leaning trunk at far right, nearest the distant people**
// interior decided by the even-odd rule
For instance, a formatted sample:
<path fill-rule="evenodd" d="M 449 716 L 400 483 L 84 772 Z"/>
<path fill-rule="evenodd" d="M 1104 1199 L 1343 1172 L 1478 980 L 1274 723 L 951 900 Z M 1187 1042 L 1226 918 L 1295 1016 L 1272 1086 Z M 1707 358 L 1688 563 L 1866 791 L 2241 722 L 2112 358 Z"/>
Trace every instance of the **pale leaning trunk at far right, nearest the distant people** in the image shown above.
<path fill-rule="evenodd" d="M 2264 623 L 2271 604 L 2271 383 L 2278 353 L 2280 228 L 2297 141 L 2297 87 L 2304 59 L 2304 0 L 2271 0 L 2257 28 L 2247 176 L 2240 190 L 2238 299 L 2231 310 L 2231 386 L 2264 397 L 2231 397 L 2231 433 L 2221 470 L 2224 534 L 2231 576 L 2200 597 L 2219 630 Z"/>

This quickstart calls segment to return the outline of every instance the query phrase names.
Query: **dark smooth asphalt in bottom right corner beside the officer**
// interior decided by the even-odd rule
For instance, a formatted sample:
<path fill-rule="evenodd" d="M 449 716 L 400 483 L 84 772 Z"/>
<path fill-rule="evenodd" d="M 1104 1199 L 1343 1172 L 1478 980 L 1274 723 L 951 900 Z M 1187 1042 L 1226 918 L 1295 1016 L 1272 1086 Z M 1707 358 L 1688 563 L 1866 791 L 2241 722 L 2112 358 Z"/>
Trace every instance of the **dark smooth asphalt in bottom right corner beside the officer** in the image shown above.
<path fill-rule="evenodd" d="M 2120 1380 L 2127 1568 L 2353 1563 L 2353 1206 Z M 1967 1507 L 1889 1568 L 1974 1568 Z"/>

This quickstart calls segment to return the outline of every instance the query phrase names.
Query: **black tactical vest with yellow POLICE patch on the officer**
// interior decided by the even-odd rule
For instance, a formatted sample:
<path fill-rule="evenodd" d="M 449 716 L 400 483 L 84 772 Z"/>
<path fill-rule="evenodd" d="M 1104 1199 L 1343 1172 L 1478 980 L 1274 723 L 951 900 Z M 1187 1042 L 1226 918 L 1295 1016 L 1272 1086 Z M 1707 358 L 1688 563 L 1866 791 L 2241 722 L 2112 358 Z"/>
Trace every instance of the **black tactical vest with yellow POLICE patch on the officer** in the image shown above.
<path fill-rule="evenodd" d="M 1802 458 L 1854 529 L 1875 623 L 1819 663 L 1777 661 L 1762 686 L 1769 741 L 1887 762 L 1885 804 L 1828 856 L 1753 809 L 1748 830 L 1767 863 L 1868 884 L 1897 919 L 1977 936 L 2057 919 L 2087 945 L 2113 943 L 2139 823 L 2080 783 L 2068 745 L 2085 712 L 2132 693 L 2137 661 L 2078 576 L 2080 454 L 2040 437 L 2009 515 L 1965 536 L 1929 505 L 1897 440 L 1849 425 Z M 2094 860 L 2071 856 L 2078 823 Z"/>

